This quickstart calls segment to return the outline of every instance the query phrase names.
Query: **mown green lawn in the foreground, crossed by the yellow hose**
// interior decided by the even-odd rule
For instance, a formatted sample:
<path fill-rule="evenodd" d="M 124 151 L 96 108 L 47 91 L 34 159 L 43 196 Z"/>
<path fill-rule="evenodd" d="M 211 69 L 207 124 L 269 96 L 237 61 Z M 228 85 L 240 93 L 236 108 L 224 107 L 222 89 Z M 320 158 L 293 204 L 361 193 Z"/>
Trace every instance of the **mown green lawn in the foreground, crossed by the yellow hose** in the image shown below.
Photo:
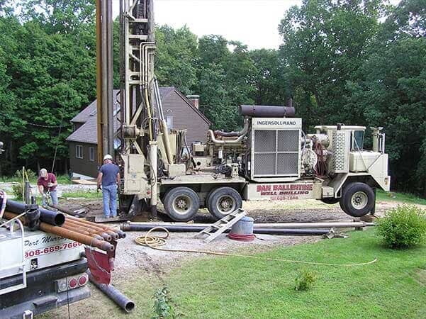
<path fill-rule="evenodd" d="M 178 318 L 426 318 L 426 245 L 388 250 L 374 230 L 349 235 L 257 254 L 329 263 L 378 259 L 361 267 L 307 266 L 318 276 L 310 291 L 294 290 L 301 264 L 240 257 L 186 262 L 163 275 L 164 283 Z M 102 298 L 96 318 L 150 318 L 152 294 L 161 286 L 155 276 L 136 275 L 118 286 L 135 301 L 134 312 L 124 315 Z"/>

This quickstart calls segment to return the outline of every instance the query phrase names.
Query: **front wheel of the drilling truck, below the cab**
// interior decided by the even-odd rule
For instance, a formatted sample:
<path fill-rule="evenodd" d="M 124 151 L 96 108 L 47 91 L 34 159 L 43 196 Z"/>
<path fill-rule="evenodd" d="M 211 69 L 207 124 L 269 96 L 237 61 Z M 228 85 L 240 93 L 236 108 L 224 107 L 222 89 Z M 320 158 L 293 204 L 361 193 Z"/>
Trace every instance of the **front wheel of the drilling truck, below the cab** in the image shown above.
<path fill-rule="evenodd" d="M 350 183 L 343 189 L 340 198 L 340 207 L 352 217 L 361 217 L 368 214 L 374 207 L 374 191 L 364 183 Z"/>

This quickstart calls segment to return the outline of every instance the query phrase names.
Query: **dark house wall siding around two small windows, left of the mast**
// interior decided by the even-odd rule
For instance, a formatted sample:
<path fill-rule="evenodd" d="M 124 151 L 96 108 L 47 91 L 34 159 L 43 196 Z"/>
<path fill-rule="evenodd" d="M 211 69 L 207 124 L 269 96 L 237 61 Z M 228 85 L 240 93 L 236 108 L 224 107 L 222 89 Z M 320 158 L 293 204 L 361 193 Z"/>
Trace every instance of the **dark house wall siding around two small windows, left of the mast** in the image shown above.
<path fill-rule="evenodd" d="M 69 167 L 72 172 L 77 174 L 86 175 L 89 177 L 96 177 L 98 174 L 97 162 L 97 147 L 94 144 L 87 144 L 82 142 L 68 142 L 69 144 Z M 82 145 L 83 158 L 76 157 L 76 145 Z M 89 159 L 89 147 L 94 147 L 94 161 Z"/>

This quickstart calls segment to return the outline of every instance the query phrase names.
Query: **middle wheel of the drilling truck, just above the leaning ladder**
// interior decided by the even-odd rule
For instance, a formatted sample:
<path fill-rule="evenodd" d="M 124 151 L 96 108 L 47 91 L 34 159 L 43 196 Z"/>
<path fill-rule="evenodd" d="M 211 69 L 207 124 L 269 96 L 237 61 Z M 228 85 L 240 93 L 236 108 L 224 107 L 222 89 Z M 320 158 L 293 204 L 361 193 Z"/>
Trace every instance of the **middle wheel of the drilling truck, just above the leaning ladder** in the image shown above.
<path fill-rule="evenodd" d="M 231 187 L 220 187 L 208 196 L 207 208 L 215 218 L 224 218 L 241 207 L 241 195 Z"/>

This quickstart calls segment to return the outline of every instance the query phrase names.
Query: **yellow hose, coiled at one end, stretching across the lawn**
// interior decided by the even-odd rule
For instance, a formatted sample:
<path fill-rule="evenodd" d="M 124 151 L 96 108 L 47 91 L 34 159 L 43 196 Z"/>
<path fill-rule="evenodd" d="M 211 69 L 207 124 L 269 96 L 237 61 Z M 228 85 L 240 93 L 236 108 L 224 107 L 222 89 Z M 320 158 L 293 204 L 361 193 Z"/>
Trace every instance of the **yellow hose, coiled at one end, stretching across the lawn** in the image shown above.
<path fill-rule="evenodd" d="M 162 230 L 166 232 L 165 236 L 152 236 L 150 233 L 152 233 L 155 230 Z M 146 247 L 150 247 L 153 250 L 161 250 L 163 252 L 194 252 L 198 254 L 214 254 L 217 256 L 231 256 L 231 257 L 242 257 L 242 258 L 252 258 L 252 259 L 262 259 L 262 260 L 269 260 L 273 262 L 290 262 L 293 264 L 313 264 L 318 266 L 336 266 L 336 267 L 354 267 L 354 266 L 365 266 L 367 264 L 374 264 L 377 262 L 377 258 L 374 260 L 371 260 L 371 262 L 361 262 L 359 264 L 332 264 L 327 262 L 304 262 L 302 260 L 292 260 L 292 259 L 281 259 L 281 258 L 269 258 L 269 257 L 258 257 L 258 256 L 252 256 L 249 254 L 228 254 L 227 252 L 212 252 L 210 250 L 172 250 L 168 248 L 161 248 L 160 246 L 164 246 L 167 244 L 167 238 L 169 237 L 170 233 L 169 230 L 167 230 L 164 227 L 155 227 L 151 228 L 145 236 L 140 236 L 135 239 L 135 242 L 137 242 L 139 245 L 143 245 Z"/>

